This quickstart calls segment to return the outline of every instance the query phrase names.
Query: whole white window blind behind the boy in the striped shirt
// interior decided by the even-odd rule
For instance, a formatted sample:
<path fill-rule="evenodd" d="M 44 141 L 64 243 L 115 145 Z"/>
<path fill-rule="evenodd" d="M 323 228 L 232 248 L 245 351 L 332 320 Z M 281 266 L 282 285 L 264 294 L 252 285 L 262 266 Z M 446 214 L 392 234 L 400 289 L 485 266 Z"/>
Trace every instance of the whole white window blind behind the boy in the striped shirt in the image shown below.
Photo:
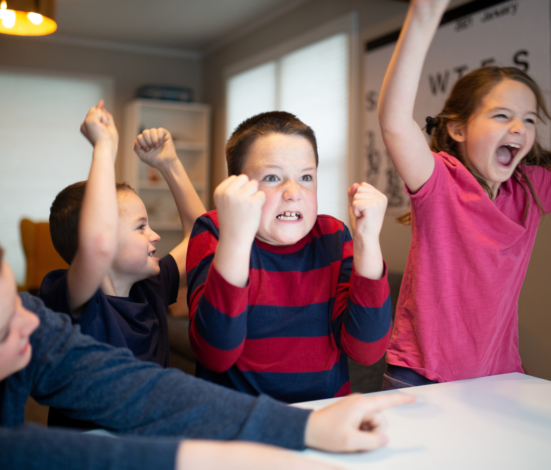
<path fill-rule="evenodd" d="M 348 223 L 349 35 L 330 36 L 229 78 L 228 137 L 241 121 L 274 109 L 314 129 L 318 213 Z"/>

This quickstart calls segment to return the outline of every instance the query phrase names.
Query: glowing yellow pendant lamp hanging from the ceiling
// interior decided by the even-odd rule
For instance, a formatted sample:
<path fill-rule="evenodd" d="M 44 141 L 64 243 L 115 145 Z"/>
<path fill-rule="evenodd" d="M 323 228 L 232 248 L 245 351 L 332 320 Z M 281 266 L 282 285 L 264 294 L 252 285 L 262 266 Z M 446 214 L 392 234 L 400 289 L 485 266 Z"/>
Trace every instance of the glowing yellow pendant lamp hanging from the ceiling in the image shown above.
<path fill-rule="evenodd" d="M 55 0 L 1 0 L 0 33 L 44 36 L 57 29 Z"/>

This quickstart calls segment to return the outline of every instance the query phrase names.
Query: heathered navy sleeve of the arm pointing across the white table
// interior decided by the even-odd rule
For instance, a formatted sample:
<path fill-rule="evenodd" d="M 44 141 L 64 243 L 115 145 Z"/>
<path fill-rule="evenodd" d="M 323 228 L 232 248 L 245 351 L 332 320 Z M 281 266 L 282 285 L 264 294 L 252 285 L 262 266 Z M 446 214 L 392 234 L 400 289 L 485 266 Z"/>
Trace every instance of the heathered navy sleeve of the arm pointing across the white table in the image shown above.
<path fill-rule="evenodd" d="M 286 407 L 267 396 L 252 397 L 202 381 L 177 369 L 136 360 L 130 351 L 80 333 L 68 316 L 52 312 L 39 298 L 21 294 L 41 325 L 31 336 L 33 359 L 8 378 L 11 389 L 30 391 L 37 402 L 72 419 L 93 421 L 122 434 L 239 439 L 304 448 L 310 410 Z M 16 385 L 19 383 L 19 387 Z M 23 393 L 24 394 L 24 393 Z M 8 398 L 8 399 L 6 399 Z M 5 397 L 4 425 L 23 423 Z"/>

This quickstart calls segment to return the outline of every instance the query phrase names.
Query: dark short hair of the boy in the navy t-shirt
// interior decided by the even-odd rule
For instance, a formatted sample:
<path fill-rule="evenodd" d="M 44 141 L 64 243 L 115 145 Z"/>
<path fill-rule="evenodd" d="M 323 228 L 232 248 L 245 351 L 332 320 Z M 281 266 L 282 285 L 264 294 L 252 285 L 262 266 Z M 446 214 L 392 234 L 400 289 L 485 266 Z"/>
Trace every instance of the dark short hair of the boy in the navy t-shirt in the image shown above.
<path fill-rule="evenodd" d="M 86 183 L 78 181 L 62 189 L 50 207 L 50 236 L 53 247 L 67 264 L 71 264 L 77 253 L 78 220 Z M 134 191 L 126 181 L 117 183 L 116 187 L 117 192 Z"/>

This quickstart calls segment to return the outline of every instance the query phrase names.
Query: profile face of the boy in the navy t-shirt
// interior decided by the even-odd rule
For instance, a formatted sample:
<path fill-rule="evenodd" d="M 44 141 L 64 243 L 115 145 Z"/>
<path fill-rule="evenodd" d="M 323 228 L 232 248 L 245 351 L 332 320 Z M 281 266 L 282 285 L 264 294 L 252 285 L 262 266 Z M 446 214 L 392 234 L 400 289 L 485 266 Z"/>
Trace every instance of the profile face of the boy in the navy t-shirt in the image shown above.
<path fill-rule="evenodd" d="M 112 264 L 115 276 L 134 282 L 159 274 L 159 259 L 153 257 L 158 234 L 149 227 L 147 211 L 133 191 L 118 191 L 118 250 Z"/>

